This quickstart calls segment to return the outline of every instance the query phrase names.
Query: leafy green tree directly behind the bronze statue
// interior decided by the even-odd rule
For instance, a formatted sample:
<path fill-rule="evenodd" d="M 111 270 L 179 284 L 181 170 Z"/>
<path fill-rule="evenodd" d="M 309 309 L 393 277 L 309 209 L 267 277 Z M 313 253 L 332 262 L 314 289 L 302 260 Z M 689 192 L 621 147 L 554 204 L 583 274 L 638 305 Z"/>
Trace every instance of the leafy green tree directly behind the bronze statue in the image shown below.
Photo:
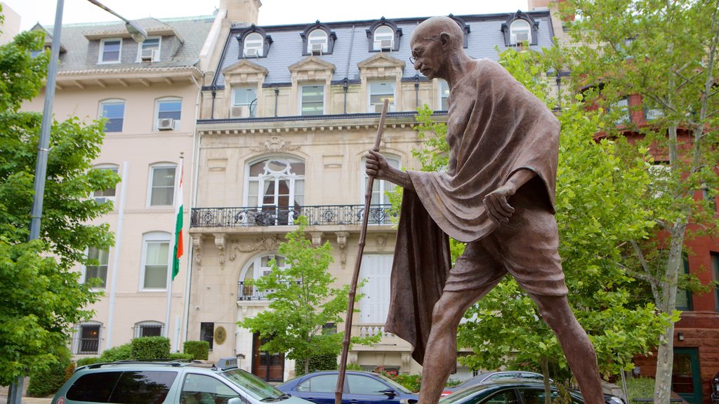
<path fill-rule="evenodd" d="M 500 55 L 500 63 L 548 106 L 557 106 L 559 100 L 549 96 L 543 79 L 553 53 L 509 50 Z M 656 316 L 651 302 L 633 298 L 633 279 L 623 270 L 622 243 L 646 237 L 653 226 L 636 205 L 650 181 L 643 170 L 649 155 L 644 150 L 626 160 L 620 151 L 631 144 L 622 139 L 596 142 L 600 118 L 599 111 L 587 114 L 578 99 L 561 104 L 556 207 L 569 303 L 595 345 L 600 372 L 608 375 L 631 367 L 633 354 L 648 352 L 669 319 Z M 426 111 L 420 119 L 426 119 Z M 432 144 L 430 150 L 417 152 L 433 162 L 424 168 L 444 165 L 442 147 Z M 454 243 L 453 254 L 458 254 L 462 245 Z M 555 380 L 569 377 L 557 339 L 511 277 L 472 306 L 465 318 L 457 337 L 460 346 L 473 350 L 462 357 L 470 368 L 521 366 L 540 370 L 546 379 L 551 368 Z"/>

